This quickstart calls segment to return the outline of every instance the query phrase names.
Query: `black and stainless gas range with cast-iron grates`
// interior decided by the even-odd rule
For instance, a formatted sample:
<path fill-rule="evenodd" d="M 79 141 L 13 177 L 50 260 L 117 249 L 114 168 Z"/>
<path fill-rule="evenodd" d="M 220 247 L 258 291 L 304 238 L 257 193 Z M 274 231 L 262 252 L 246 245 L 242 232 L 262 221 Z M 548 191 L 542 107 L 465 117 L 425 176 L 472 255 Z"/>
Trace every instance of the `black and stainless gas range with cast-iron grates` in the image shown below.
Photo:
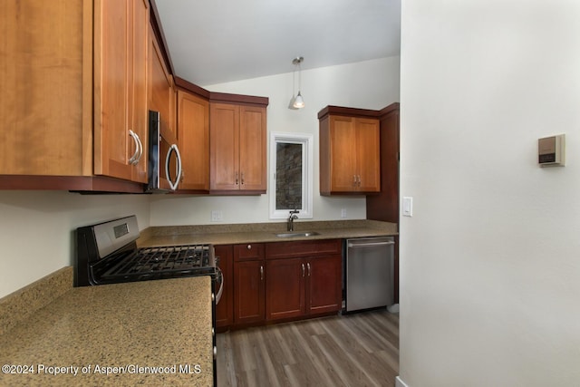
<path fill-rule="evenodd" d="M 134 215 L 77 228 L 74 285 L 106 285 L 187 276 L 211 276 L 214 381 L 216 381 L 216 305 L 223 292 L 224 281 L 214 247 L 206 244 L 137 247 L 136 241 L 139 237 L 137 217 Z"/>

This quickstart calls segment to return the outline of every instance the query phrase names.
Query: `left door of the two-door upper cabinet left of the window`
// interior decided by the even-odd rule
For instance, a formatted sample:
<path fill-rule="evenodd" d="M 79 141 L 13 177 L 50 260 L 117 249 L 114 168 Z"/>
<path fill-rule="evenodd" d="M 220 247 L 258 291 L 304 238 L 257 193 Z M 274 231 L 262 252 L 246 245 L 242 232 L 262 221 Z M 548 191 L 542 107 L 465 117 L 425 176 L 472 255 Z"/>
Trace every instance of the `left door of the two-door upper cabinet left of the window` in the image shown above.
<path fill-rule="evenodd" d="M 239 189 L 239 106 L 212 103 L 209 117 L 209 187 Z"/>

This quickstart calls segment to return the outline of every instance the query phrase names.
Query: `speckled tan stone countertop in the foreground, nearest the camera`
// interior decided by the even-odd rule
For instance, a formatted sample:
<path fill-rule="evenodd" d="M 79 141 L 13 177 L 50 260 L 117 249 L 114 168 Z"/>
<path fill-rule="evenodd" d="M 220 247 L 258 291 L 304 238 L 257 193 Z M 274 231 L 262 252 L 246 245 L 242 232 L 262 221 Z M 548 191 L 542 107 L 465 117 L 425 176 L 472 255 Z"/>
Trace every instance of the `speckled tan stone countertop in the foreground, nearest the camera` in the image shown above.
<path fill-rule="evenodd" d="M 22 366 L 2 386 L 211 386 L 210 277 L 72 288 L 0 335 L 0 364 Z"/>

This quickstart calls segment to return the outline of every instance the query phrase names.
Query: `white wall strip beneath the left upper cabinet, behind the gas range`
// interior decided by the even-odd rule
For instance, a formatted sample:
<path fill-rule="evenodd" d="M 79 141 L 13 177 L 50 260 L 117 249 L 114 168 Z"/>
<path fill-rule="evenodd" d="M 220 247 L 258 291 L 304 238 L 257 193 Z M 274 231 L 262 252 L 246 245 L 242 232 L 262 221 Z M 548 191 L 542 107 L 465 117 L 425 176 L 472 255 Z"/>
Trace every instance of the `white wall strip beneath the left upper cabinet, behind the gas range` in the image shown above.
<path fill-rule="evenodd" d="M 73 265 L 77 227 L 133 214 L 150 226 L 149 196 L 0 191 L 0 298 Z"/>

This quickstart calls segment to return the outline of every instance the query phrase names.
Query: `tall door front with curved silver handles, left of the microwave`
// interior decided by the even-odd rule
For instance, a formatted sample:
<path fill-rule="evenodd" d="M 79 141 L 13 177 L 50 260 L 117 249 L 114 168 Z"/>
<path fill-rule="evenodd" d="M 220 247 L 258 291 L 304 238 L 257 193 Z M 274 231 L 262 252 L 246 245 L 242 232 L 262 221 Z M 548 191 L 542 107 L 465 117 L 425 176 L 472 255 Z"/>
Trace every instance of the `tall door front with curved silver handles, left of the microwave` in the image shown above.
<path fill-rule="evenodd" d="M 149 1 L 94 2 L 94 174 L 147 182 Z"/>

